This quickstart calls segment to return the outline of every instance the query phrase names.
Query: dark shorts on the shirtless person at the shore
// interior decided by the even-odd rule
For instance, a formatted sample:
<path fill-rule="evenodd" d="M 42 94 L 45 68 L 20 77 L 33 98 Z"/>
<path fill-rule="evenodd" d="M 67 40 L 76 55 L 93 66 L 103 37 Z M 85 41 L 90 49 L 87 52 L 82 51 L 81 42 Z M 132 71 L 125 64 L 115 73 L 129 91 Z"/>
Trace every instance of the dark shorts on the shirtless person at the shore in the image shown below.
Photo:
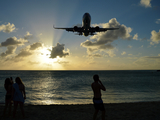
<path fill-rule="evenodd" d="M 101 98 L 93 98 L 93 103 L 96 110 L 105 111 L 104 104 Z"/>

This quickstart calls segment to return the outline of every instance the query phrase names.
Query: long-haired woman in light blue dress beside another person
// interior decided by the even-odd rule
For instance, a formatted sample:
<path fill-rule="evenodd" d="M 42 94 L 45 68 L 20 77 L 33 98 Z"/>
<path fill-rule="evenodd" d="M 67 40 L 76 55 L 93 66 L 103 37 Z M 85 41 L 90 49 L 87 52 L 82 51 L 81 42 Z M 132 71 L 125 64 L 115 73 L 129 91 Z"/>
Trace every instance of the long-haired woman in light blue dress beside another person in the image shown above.
<path fill-rule="evenodd" d="M 20 105 L 20 109 L 22 112 L 23 117 L 25 116 L 24 114 L 24 99 L 26 99 L 26 93 L 25 93 L 25 86 L 21 80 L 20 77 L 16 77 L 15 84 L 13 84 L 13 101 L 14 101 L 14 110 L 13 110 L 13 117 L 15 118 L 16 111 L 18 104 Z"/>

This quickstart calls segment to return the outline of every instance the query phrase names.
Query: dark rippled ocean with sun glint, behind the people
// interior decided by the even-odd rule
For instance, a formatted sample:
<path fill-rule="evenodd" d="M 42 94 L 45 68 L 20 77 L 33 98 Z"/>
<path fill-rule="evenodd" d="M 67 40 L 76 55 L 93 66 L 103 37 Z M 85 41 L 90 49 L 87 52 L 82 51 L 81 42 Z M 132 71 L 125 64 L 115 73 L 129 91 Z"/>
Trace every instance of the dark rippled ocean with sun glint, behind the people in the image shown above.
<path fill-rule="evenodd" d="M 4 81 L 19 76 L 26 90 L 25 104 L 90 104 L 93 75 L 106 87 L 104 103 L 160 101 L 160 72 L 119 71 L 0 71 L 0 103 L 5 102 Z"/>

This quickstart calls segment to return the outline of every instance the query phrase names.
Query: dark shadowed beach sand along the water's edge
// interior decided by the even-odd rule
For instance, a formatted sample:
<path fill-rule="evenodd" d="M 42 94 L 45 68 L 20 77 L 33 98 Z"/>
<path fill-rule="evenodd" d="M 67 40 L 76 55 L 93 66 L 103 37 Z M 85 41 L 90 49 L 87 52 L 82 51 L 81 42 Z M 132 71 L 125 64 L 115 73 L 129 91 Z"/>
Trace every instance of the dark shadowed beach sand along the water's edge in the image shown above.
<path fill-rule="evenodd" d="M 2 117 L 4 105 L 0 105 L 0 120 L 12 120 L 12 116 Z M 160 120 L 160 102 L 112 103 L 105 104 L 106 120 Z M 92 120 L 94 107 L 84 105 L 25 105 L 25 120 Z M 17 110 L 16 119 L 21 120 Z M 101 112 L 97 120 L 101 120 Z"/>

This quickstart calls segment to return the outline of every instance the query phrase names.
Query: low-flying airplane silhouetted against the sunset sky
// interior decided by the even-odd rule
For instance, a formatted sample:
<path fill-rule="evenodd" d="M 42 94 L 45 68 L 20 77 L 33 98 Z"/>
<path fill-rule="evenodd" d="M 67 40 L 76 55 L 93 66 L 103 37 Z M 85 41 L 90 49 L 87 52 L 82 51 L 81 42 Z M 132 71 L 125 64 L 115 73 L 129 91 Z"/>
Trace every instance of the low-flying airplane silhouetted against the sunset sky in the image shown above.
<path fill-rule="evenodd" d="M 68 32 L 78 32 L 78 35 L 95 35 L 95 32 L 105 32 L 107 30 L 117 30 L 119 28 L 100 28 L 99 26 L 91 27 L 91 16 L 89 13 L 85 13 L 82 18 L 82 27 L 74 26 L 73 28 L 56 28 L 54 29 L 65 29 Z"/>

